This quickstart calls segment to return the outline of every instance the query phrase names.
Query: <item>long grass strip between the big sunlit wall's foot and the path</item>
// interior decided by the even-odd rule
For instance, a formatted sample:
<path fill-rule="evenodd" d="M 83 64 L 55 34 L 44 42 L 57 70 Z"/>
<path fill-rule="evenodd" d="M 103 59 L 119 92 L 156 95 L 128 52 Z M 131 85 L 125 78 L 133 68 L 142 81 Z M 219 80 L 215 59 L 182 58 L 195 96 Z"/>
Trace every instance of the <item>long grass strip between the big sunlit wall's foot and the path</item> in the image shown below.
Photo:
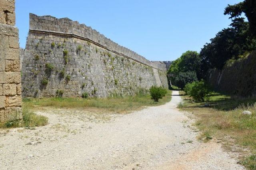
<path fill-rule="evenodd" d="M 31 98 L 23 101 L 30 109 L 38 107 L 94 109 L 98 112 L 129 112 L 144 106 L 158 106 L 171 100 L 171 90 L 166 96 L 154 102 L 149 94 L 108 98 Z"/>

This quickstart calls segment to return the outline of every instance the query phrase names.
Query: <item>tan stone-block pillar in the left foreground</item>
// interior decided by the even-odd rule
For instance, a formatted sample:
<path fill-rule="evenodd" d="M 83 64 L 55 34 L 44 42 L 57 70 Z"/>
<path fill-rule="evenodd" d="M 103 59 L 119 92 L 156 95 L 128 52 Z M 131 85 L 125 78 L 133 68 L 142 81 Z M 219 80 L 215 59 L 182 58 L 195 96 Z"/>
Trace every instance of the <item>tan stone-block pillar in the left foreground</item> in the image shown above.
<path fill-rule="evenodd" d="M 15 0 L 0 0 L 0 122 L 22 118 Z"/>

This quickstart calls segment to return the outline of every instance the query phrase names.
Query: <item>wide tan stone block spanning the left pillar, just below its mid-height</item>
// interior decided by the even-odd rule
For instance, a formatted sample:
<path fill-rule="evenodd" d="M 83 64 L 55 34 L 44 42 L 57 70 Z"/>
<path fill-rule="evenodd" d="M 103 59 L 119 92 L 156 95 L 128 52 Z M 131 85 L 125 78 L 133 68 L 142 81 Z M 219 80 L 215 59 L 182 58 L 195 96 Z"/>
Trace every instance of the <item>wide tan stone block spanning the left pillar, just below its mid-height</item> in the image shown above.
<path fill-rule="evenodd" d="M 20 83 L 20 72 L 0 72 L 0 84 Z"/>

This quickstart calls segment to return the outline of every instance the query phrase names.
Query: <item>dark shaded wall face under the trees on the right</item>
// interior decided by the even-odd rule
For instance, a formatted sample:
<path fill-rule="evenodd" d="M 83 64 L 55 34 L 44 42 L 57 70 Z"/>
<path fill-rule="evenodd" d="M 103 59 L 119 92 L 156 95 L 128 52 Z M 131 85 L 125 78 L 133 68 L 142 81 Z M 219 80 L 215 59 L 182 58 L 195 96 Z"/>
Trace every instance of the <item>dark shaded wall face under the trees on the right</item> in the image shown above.
<path fill-rule="evenodd" d="M 246 59 L 236 61 L 222 70 L 213 69 L 208 82 L 216 91 L 237 95 L 256 96 L 256 51 Z"/>

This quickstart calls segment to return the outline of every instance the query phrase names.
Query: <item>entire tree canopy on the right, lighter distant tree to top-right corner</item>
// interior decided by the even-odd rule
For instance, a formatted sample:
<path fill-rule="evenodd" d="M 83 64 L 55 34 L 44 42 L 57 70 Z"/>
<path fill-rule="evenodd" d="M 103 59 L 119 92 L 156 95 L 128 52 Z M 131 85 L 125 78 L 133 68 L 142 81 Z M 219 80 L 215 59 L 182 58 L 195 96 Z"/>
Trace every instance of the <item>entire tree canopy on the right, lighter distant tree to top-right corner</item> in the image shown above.
<path fill-rule="evenodd" d="M 221 70 L 225 64 L 230 63 L 229 61 L 244 58 L 256 50 L 256 0 L 244 0 L 228 5 L 224 14 L 230 15 L 232 19 L 228 28 L 222 29 L 211 38 L 199 54 L 196 51 L 186 51 L 172 62 L 168 70 L 172 83 L 178 82 L 177 77 L 187 81 L 194 73 L 198 80 L 205 79 L 209 69 Z M 242 17 L 243 14 L 248 21 Z"/>

